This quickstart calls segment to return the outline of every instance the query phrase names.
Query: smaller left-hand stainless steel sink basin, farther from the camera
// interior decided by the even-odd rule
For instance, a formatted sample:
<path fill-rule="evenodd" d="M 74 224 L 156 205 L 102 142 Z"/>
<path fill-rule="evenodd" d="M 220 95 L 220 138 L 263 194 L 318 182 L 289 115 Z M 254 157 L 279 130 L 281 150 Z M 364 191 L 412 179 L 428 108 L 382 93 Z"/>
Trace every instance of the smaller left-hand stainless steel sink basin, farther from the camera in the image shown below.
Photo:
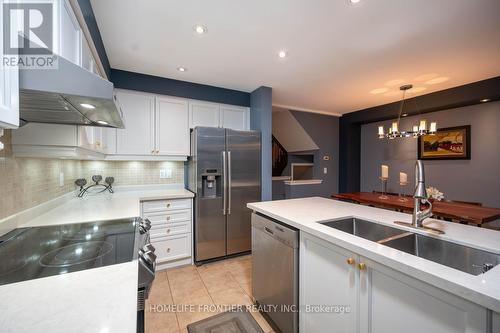
<path fill-rule="evenodd" d="M 319 223 L 374 242 L 405 233 L 405 231 L 397 228 L 387 227 L 354 217 Z"/>

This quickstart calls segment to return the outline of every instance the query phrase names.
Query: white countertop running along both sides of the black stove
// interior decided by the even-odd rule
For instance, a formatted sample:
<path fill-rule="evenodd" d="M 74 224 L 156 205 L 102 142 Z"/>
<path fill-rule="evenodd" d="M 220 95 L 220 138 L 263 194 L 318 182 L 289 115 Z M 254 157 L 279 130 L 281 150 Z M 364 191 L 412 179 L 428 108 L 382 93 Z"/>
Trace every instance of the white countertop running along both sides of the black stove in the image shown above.
<path fill-rule="evenodd" d="M 114 194 L 58 198 L 4 220 L 41 226 L 140 216 L 140 202 L 192 198 L 173 187 L 116 188 Z M 33 216 L 36 216 L 33 218 Z M 31 218 L 30 218 L 31 217 Z M 0 331 L 136 332 L 138 262 L 49 276 L 0 286 Z"/>

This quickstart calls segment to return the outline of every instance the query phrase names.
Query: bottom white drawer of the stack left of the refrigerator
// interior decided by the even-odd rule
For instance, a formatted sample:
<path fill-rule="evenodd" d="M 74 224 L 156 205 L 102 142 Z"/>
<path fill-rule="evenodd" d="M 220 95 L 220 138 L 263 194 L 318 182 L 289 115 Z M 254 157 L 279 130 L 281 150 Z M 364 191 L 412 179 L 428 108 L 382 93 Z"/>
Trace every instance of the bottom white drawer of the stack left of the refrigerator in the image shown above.
<path fill-rule="evenodd" d="M 191 234 L 152 239 L 157 262 L 191 257 Z"/>

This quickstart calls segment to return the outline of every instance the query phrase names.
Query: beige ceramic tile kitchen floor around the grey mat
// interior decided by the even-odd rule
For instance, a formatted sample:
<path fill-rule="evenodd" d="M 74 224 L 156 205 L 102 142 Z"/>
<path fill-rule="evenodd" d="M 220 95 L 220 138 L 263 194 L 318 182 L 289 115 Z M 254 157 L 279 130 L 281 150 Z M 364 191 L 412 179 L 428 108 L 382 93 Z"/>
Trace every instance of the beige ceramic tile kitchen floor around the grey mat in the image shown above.
<path fill-rule="evenodd" d="M 251 305 L 251 295 L 251 256 L 158 272 L 146 303 L 146 332 L 187 333 L 188 324 L 224 306 Z M 273 332 L 260 313 L 252 315 L 265 333 Z"/>

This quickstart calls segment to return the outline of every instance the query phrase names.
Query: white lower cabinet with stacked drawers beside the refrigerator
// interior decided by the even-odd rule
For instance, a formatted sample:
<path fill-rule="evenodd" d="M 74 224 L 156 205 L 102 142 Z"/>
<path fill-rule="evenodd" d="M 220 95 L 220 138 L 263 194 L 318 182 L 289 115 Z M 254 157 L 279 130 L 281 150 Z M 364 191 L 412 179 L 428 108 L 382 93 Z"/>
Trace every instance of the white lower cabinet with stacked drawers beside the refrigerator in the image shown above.
<path fill-rule="evenodd" d="M 151 221 L 157 270 L 192 263 L 192 199 L 144 201 L 142 217 Z"/>

